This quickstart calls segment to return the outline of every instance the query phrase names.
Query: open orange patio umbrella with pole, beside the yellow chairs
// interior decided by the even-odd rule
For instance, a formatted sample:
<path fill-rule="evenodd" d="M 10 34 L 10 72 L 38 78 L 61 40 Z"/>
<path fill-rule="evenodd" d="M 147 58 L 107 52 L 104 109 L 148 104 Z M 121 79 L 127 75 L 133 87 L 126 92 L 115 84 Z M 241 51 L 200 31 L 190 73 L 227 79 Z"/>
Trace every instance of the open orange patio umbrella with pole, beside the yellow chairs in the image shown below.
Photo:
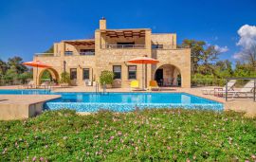
<path fill-rule="evenodd" d="M 149 58 L 149 57 L 137 57 L 135 59 L 129 60 L 128 63 L 140 63 L 142 64 L 142 89 L 144 90 L 144 66 L 143 64 L 155 64 L 159 63 L 159 61 Z"/>

